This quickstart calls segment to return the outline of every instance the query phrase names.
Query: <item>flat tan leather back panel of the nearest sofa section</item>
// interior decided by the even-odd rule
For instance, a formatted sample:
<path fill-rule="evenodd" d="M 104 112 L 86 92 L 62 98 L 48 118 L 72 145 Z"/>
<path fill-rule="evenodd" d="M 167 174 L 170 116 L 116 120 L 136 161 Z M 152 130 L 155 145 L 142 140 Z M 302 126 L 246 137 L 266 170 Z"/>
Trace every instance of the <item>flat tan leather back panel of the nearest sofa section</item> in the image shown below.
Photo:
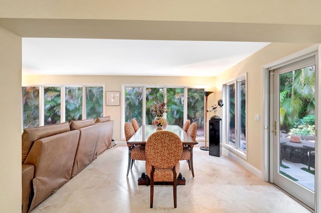
<path fill-rule="evenodd" d="M 30 210 L 70 179 L 78 140 L 79 130 L 73 130 L 34 142 L 25 160 L 35 166 Z"/>

